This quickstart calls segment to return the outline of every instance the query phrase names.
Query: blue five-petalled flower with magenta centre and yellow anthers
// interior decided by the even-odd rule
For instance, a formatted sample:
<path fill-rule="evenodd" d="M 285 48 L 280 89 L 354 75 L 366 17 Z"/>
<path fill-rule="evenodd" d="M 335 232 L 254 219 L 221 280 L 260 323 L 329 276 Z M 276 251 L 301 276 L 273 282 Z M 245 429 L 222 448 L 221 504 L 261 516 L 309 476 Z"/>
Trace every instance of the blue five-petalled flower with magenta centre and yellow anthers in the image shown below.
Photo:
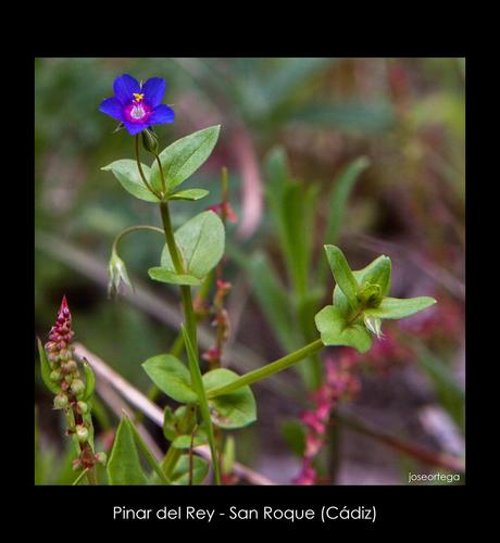
<path fill-rule="evenodd" d="M 99 111 L 121 121 L 132 134 L 139 134 L 148 126 L 173 123 L 172 108 L 161 103 L 166 81 L 151 77 L 143 85 L 128 74 L 116 77 L 113 84 L 114 97 L 107 98 Z"/>

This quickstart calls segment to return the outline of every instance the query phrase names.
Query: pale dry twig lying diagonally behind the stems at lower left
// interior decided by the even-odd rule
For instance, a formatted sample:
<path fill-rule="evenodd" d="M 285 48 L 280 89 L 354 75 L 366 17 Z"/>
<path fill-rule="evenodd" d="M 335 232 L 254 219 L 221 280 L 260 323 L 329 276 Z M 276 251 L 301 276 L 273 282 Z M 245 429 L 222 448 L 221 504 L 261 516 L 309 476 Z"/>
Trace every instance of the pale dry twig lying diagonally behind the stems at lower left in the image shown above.
<path fill-rule="evenodd" d="M 105 364 L 101 358 L 91 353 L 82 343 L 75 343 L 75 354 L 79 358 L 86 358 L 95 370 L 98 379 L 105 381 L 112 386 L 116 391 L 118 391 L 130 404 L 133 404 L 138 409 L 141 409 L 145 415 L 155 422 L 160 428 L 163 428 L 163 412 L 154 405 L 150 400 L 148 400 L 140 391 L 133 387 L 128 381 L 126 381 L 122 376 L 120 376 L 114 369 L 112 369 L 108 364 Z M 201 445 L 193 450 L 195 453 L 199 454 L 205 459 L 210 459 L 210 449 L 208 445 Z M 252 469 L 235 463 L 234 471 L 236 475 L 245 478 L 252 484 L 258 485 L 273 485 L 275 482 L 271 481 L 266 477 L 253 471 Z"/>

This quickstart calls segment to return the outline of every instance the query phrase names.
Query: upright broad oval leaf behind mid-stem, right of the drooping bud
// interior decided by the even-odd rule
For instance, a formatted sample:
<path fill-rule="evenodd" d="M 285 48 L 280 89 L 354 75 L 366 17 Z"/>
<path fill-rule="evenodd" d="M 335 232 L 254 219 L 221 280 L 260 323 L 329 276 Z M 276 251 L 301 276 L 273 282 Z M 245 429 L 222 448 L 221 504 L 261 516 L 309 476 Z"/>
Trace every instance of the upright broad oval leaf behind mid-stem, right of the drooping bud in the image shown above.
<path fill-rule="evenodd" d="M 214 268 L 224 254 L 224 225 L 216 213 L 205 211 L 196 215 L 175 232 L 187 275 L 202 279 Z M 175 272 L 165 244 L 161 266 Z"/>

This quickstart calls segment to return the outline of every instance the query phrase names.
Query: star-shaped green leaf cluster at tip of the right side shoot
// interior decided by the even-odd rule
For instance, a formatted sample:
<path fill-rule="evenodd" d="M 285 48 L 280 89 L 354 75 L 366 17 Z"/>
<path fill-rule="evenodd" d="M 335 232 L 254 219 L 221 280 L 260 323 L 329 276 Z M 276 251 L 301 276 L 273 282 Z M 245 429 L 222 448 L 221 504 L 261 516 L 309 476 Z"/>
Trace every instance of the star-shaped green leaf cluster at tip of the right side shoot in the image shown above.
<path fill-rule="evenodd" d="M 315 316 L 316 328 L 325 345 L 347 345 L 365 353 L 373 334 L 380 334 L 383 319 L 409 317 L 436 303 L 429 296 L 390 298 L 391 264 L 378 256 L 363 269 L 352 272 L 343 253 L 335 245 L 325 245 L 334 275 L 334 305 Z"/>

